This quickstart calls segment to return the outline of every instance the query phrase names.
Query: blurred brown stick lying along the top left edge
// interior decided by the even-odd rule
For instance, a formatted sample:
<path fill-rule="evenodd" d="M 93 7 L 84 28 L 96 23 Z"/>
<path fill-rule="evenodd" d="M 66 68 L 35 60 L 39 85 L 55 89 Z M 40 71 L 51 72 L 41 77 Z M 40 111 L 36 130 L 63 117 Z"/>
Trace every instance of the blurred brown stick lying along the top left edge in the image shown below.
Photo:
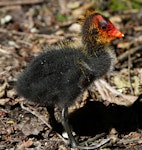
<path fill-rule="evenodd" d="M 0 6 L 10 6 L 10 5 L 32 5 L 42 3 L 44 0 L 15 0 L 15 1 L 2 1 L 0 2 Z"/>

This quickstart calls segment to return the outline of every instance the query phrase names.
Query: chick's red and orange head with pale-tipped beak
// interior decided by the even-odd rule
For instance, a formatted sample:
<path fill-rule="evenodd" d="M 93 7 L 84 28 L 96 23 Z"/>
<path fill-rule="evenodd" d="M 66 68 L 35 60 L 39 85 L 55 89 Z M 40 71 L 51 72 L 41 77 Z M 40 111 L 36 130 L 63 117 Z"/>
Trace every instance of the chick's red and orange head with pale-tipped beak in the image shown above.
<path fill-rule="evenodd" d="M 109 19 L 95 11 L 87 12 L 79 22 L 85 42 L 107 44 L 124 36 Z"/>

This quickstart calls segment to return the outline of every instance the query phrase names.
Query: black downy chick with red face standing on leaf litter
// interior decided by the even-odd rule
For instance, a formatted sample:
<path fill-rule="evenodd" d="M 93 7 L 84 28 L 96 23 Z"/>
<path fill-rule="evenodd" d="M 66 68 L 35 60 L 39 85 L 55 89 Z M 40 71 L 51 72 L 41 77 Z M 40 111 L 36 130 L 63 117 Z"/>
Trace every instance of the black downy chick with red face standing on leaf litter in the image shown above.
<path fill-rule="evenodd" d="M 17 81 L 19 95 L 50 108 L 62 110 L 62 125 L 72 147 L 79 146 L 68 124 L 68 107 L 96 79 L 106 74 L 113 64 L 110 42 L 123 34 L 109 19 L 88 11 L 80 19 L 82 44 L 51 47 L 34 58 Z M 53 116 L 53 110 L 51 115 Z"/>

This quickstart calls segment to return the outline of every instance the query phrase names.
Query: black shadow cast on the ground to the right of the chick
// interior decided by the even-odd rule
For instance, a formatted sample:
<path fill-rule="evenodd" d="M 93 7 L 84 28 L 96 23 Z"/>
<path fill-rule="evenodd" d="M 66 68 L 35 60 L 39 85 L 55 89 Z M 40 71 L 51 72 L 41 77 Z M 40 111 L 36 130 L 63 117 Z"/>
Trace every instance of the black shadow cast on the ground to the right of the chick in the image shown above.
<path fill-rule="evenodd" d="M 69 122 L 78 135 L 108 133 L 115 128 L 118 133 L 128 133 L 142 128 L 142 95 L 131 106 L 120 106 L 88 101 L 69 116 Z"/>

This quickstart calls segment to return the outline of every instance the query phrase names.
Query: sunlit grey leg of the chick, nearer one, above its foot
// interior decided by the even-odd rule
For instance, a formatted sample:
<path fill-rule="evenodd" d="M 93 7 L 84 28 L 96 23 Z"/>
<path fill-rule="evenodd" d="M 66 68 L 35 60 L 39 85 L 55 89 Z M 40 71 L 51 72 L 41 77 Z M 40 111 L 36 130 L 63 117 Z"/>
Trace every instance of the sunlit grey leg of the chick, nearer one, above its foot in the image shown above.
<path fill-rule="evenodd" d="M 68 138 L 69 138 L 69 142 L 70 142 L 71 146 L 77 147 L 78 144 L 77 144 L 74 136 L 72 135 L 72 132 L 71 132 L 71 129 L 70 129 L 70 126 L 68 123 L 68 108 L 67 107 L 63 108 L 63 110 L 62 110 L 62 125 L 68 134 Z"/>

